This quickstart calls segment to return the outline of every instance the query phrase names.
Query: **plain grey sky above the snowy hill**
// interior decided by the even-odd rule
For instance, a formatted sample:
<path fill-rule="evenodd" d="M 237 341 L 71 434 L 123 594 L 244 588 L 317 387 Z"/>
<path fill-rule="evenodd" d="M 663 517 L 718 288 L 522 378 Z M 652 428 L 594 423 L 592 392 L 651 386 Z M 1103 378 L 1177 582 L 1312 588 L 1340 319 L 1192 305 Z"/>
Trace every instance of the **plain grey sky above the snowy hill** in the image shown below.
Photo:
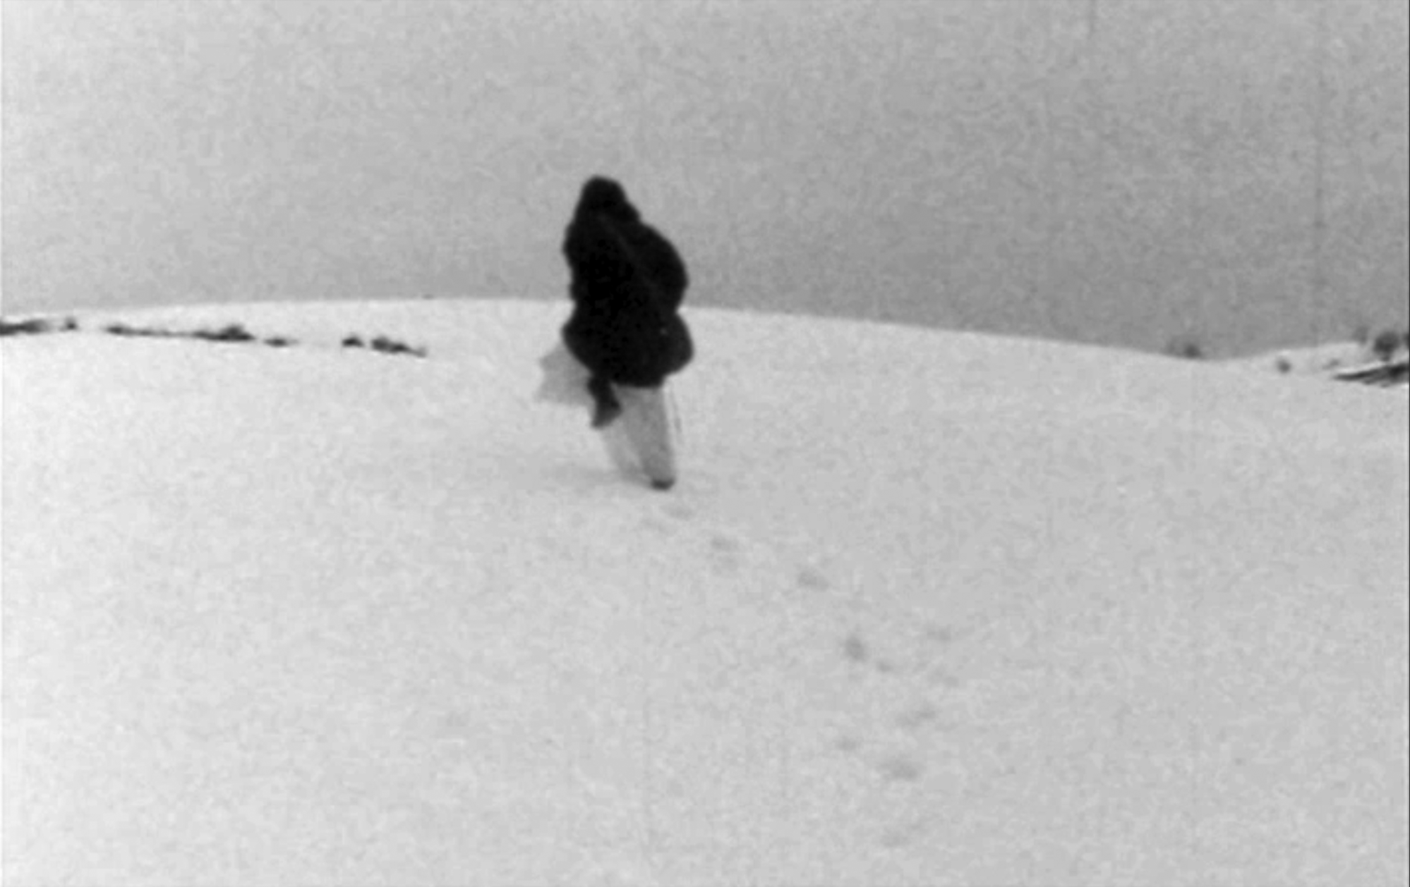
<path fill-rule="evenodd" d="M 606 173 L 687 307 L 1214 353 L 1407 322 L 1404 0 L 3 14 L 6 313 L 565 298 Z"/>

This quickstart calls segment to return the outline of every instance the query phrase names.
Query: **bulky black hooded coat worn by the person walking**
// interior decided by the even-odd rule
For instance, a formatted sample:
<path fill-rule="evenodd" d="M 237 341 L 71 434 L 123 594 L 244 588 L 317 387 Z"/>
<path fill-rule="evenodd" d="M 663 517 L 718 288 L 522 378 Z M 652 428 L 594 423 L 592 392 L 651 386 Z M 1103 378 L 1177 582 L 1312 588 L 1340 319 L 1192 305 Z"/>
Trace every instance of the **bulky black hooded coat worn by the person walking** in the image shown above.
<path fill-rule="evenodd" d="M 574 301 L 563 341 L 592 376 L 657 387 L 689 363 L 694 344 L 678 314 L 685 263 L 620 184 L 594 177 L 582 186 L 563 255 Z"/>

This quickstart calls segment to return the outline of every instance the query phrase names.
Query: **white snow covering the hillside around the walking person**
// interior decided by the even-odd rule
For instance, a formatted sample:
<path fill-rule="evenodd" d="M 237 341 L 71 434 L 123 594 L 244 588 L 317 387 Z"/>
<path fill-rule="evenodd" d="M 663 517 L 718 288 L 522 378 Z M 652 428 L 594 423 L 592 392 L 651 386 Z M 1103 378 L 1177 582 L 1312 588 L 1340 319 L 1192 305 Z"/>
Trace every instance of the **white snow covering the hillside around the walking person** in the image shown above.
<path fill-rule="evenodd" d="M 658 493 L 565 313 L 4 339 L 7 884 L 1406 883 L 1404 397 L 694 310 Z"/>

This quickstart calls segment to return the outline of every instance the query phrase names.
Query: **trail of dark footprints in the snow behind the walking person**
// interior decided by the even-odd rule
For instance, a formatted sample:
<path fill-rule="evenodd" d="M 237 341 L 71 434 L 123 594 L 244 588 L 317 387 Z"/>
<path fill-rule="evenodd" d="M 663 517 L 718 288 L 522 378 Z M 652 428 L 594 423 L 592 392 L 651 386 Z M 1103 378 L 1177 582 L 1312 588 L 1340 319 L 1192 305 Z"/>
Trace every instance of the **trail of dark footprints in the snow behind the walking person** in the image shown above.
<path fill-rule="evenodd" d="M 684 503 L 670 503 L 661 508 L 661 514 L 666 518 L 664 521 L 647 518 L 646 525 L 663 535 L 673 532 L 673 524 L 678 525 L 695 520 L 695 510 Z M 721 531 L 711 531 L 705 538 L 709 563 L 716 574 L 729 576 L 742 569 L 746 546 L 740 539 Z M 792 581 L 798 589 L 809 593 L 835 590 L 835 583 L 823 570 L 807 563 L 794 569 Z M 948 625 L 924 627 L 919 634 L 921 649 L 908 658 L 911 662 L 907 662 L 905 667 L 898 666 L 894 659 L 880 655 L 859 631 L 852 631 L 839 638 L 838 653 L 846 660 L 847 669 L 854 677 L 869 679 L 870 676 L 881 676 L 883 679 L 897 679 L 922 673 L 925 684 L 932 691 L 945 694 L 957 690 L 962 684 L 960 679 L 945 666 L 948 648 L 956 643 L 962 634 L 967 632 L 956 631 Z M 894 741 L 869 742 L 859 735 L 864 731 L 839 734 L 832 743 L 833 748 L 840 753 L 864 760 L 874 772 L 881 787 L 891 786 L 900 788 L 905 784 L 921 783 L 926 769 L 922 756 L 918 753 L 918 748 L 925 743 L 925 739 L 936 734 L 949 732 L 955 726 L 942 715 L 942 707 L 931 700 L 929 696 L 924 694 L 922 698 L 915 698 L 902 707 L 887 725 L 901 731 L 909 739 L 909 742 L 902 743 L 909 746 L 909 750 L 895 750 L 897 742 Z M 891 748 L 887 749 L 885 746 Z M 912 818 L 888 828 L 880 836 L 880 843 L 887 848 L 905 846 L 919 838 L 925 832 L 926 825 L 925 818 Z"/>

